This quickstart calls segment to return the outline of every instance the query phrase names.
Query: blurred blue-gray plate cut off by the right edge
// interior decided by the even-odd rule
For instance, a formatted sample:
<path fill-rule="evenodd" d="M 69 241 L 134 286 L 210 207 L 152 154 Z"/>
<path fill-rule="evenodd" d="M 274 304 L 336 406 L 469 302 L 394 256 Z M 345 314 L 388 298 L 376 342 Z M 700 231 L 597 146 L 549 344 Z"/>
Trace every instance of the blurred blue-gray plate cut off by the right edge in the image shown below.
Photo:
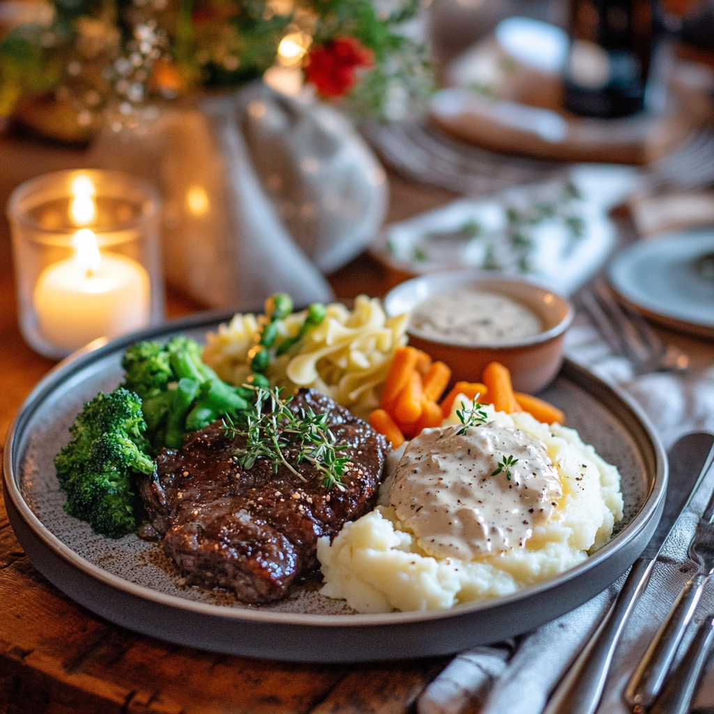
<path fill-rule="evenodd" d="M 613 261 L 610 283 L 653 320 L 714 339 L 714 279 L 697 269 L 713 252 L 712 228 L 635 243 Z"/>

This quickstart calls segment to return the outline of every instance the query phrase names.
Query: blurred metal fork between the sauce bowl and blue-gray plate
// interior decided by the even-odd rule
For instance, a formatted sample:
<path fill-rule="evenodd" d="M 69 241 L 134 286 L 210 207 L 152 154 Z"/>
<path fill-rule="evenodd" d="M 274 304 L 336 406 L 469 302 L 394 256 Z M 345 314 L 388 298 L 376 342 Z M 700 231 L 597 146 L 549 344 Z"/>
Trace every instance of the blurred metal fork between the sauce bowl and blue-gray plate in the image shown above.
<path fill-rule="evenodd" d="M 620 303 L 604 281 L 580 291 L 580 304 L 612 351 L 633 363 L 635 374 L 688 370 L 689 357 L 660 340 L 645 318 Z"/>

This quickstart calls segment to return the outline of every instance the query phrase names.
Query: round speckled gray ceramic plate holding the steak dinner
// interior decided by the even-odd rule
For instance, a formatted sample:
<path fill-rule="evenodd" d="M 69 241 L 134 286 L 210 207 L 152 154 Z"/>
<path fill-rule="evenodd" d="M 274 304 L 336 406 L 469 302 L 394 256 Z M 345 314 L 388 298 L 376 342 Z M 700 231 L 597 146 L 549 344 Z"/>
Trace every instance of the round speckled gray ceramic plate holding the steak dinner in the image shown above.
<path fill-rule="evenodd" d="M 504 598 L 451 610 L 358 614 L 303 583 L 270 605 L 186 588 L 160 545 L 136 535 L 113 540 L 62 510 L 53 458 L 84 401 L 116 387 L 121 356 L 138 338 L 198 339 L 228 315 L 204 314 L 121 338 L 62 363 L 29 396 L 4 453 L 11 524 L 29 558 L 60 590 L 104 618 L 146 635 L 223 653 L 309 661 L 356 661 L 453 653 L 526 632 L 613 582 L 643 550 L 663 506 L 666 460 L 628 398 L 565 362 L 543 396 L 623 476 L 625 517 L 613 539 L 576 568 Z"/>

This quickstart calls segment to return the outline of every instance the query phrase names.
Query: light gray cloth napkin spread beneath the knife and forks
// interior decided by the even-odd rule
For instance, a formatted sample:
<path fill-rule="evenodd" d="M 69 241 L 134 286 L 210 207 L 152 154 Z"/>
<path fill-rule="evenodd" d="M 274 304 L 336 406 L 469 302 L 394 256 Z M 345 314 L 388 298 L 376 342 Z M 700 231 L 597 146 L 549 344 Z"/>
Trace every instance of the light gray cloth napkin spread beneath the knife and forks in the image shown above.
<path fill-rule="evenodd" d="M 685 433 L 714 433 L 714 367 L 696 376 L 657 373 L 633 377 L 630 364 L 613 356 L 597 331 L 578 318 L 565 343 L 568 356 L 588 366 L 610 383 L 618 383 L 643 406 L 665 448 Z M 699 489 L 688 512 L 665 543 L 650 585 L 630 618 L 615 653 L 608 685 L 598 711 L 625 714 L 621 700 L 638 658 L 667 614 L 692 572 L 687 548 L 700 513 L 714 489 L 714 469 Z M 548 693 L 578 654 L 607 612 L 625 575 L 584 605 L 553 620 L 516 643 L 499 643 L 461 653 L 426 688 L 417 703 L 418 714 L 540 714 Z M 705 588 L 695 626 L 714 612 L 714 585 Z M 513 647 L 511 653 L 511 645 Z M 714 708 L 714 668 L 705 676 L 695 709 Z"/>

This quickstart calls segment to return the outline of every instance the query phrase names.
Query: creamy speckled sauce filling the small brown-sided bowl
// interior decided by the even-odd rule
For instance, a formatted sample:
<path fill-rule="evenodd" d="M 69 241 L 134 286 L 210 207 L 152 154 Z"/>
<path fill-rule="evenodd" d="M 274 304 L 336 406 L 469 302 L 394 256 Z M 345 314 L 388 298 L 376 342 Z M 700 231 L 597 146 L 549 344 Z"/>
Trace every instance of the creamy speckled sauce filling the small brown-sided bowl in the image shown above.
<path fill-rule="evenodd" d="M 540 318 L 513 298 L 468 289 L 426 298 L 413 309 L 411 326 L 431 339 L 470 345 L 506 344 L 543 331 Z"/>

